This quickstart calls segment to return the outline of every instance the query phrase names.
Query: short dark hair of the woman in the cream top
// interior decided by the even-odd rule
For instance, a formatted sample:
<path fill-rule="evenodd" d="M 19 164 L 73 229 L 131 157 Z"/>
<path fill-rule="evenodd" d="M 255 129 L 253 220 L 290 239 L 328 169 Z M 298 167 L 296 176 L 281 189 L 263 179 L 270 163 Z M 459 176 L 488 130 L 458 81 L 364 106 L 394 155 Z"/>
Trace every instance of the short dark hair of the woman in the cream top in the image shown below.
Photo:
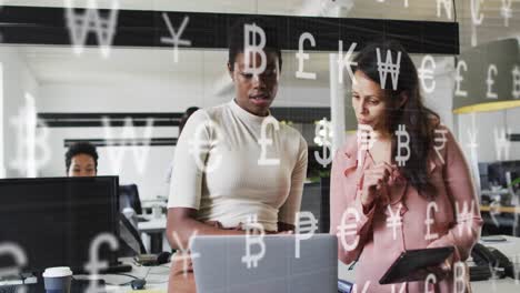
<path fill-rule="evenodd" d="M 279 36 L 277 29 L 272 26 L 267 24 L 264 20 L 261 18 L 242 18 L 239 19 L 237 22 L 228 31 L 228 40 L 229 40 L 229 52 L 228 52 L 228 62 L 231 65 L 231 70 L 233 70 L 233 63 L 239 53 L 243 53 L 244 50 L 244 26 L 246 24 L 256 24 L 257 27 L 262 28 L 266 32 L 266 47 L 263 50 L 266 52 L 273 52 L 278 55 L 278 65 L 281 70 L 282 65 L 282 58 L 281 58 L 281 49 L 279 42 Z M 257 33 L 253 33 L 256 38 L 254 43 L 259 43 L 260 40 Z"/>

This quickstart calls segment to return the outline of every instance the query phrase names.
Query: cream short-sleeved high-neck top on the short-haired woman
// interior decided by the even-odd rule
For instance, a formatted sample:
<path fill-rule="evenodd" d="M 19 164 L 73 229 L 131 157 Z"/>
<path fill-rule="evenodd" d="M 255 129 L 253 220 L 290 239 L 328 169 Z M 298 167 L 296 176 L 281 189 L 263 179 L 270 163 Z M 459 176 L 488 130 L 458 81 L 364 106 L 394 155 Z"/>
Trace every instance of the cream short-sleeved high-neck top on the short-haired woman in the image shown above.
<path fill-rule="evenodd" d="M 264 158 L 279 163 L 259 163 L 268 118 L 234 101 L 193 113 L 177 143 L 168 208 L 197 209 L 198 220 L 219 221 L 224 228 L 246 223 L 252 214 L 268 231 L 277 231 L 278 221 L 293 224 L 307 173 L 307 142 L 286 124 L 276 130 L 266 123 L 266 139 L 272 143 Z"/>

